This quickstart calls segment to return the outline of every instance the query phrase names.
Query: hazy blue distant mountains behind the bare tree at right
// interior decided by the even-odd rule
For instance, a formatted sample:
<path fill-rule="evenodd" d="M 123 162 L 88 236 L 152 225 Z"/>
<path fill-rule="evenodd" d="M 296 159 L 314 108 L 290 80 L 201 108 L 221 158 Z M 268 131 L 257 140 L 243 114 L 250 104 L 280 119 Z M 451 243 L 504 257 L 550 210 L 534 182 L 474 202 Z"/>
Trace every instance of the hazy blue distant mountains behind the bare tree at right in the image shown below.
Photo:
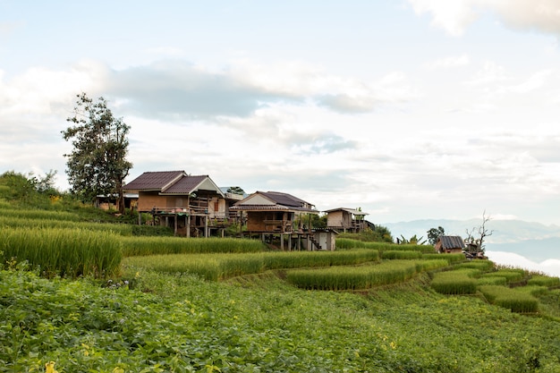
<path fill-rule="evenodd" d="M 394 238 L 409 239 L 414 234 L 428 239 L 428 230 L 439 226 L 449 235 L 467 237 L 466 231 L 479 227 L 482 219 L 445 220 L 427 219 L 410 222 L 381 223 L 391 231 Z M 513 252 L 523 257 L 541 261 L 545 259 L 560 259 L 560 226 L 530 223 L 521 220 L 490 220 L 486 224 L 489 231 L 494 231 L 487 237 L 486 250 Z"/>

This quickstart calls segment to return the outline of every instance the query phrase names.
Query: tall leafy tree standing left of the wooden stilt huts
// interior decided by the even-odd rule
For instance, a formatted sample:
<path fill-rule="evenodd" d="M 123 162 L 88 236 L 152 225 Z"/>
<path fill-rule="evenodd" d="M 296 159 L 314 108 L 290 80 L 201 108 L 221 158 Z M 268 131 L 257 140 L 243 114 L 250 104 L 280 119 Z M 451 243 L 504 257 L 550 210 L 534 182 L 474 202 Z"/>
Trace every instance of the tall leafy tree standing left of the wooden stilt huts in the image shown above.
<path fill-rule="evenodd" d="M 115 118 L 105 98 L 93 102 L 85 93 L 77 97 L 74 115 L 66 119 L 72 126 L 62 131 L 73 146 L 72 153 L 64 155 L 71 192 L 88 201 L 98 195 L 117 195 L 123 213 L 123 181 L 132 168 L 126 160 L 130 126 Z"/>

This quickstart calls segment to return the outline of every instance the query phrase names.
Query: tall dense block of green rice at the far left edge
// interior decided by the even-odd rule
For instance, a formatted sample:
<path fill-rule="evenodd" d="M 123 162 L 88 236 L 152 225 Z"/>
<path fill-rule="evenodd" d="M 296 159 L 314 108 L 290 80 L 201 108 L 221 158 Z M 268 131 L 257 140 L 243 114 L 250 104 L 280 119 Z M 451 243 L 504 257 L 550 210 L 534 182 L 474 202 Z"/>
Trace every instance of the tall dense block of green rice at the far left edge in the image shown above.
<path fill-rule="evenodd" d="M 114 233 L 82 229 L 0 228 L 0 252 L 49 277 L 116 276 L 122 258 Z"/>

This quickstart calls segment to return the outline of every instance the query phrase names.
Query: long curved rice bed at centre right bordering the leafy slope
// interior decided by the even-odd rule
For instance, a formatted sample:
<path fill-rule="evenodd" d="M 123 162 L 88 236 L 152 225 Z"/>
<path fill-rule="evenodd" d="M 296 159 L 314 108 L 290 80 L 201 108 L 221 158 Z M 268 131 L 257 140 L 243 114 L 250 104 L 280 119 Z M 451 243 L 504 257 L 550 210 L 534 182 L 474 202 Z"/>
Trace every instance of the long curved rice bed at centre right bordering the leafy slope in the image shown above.
<path fill-rule="evenodd" d="M 414 260 L 391 260 L 361 267 L 293 269 L 287 272 L 286 279 L 304 289 L 357 290 L 403 282 L 416 273 Z"/>

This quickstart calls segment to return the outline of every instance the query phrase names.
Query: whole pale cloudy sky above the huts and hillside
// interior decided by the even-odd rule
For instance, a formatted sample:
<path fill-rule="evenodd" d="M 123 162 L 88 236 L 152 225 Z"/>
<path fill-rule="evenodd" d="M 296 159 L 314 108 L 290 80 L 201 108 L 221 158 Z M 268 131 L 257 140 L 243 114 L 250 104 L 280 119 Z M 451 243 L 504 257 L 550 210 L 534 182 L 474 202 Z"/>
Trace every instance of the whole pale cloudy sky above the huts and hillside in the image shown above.
<path fill-rule="evenodd" d="M 559 37 L 558 0 L 0 0 L 0 173 L 68 189 L 85 92 L 131 126 L 128 182 L 560 225 Z"/>

